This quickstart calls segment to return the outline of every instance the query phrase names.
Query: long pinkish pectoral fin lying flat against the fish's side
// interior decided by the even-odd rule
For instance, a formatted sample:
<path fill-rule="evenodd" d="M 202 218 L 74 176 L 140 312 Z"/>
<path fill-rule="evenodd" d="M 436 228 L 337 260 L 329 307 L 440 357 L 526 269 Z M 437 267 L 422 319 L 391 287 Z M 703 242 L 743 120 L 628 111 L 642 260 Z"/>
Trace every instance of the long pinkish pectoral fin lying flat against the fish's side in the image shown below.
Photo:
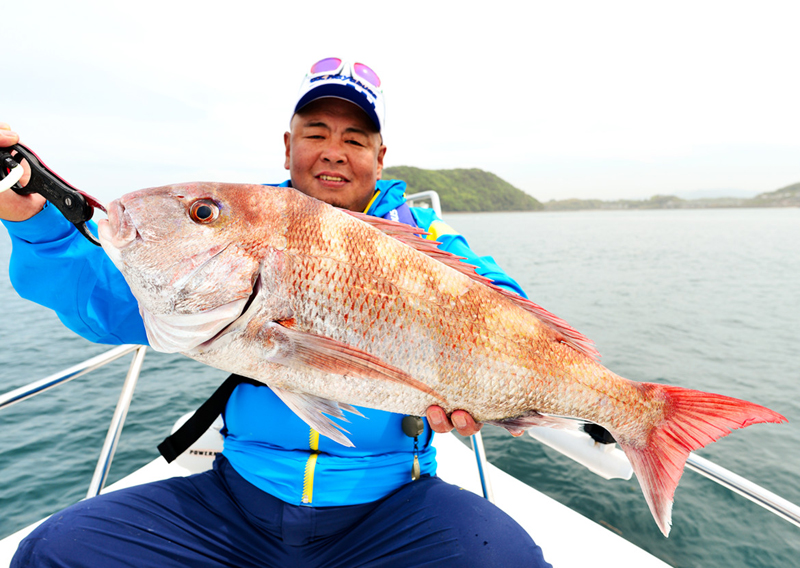
<path fill-rule="evenodd" d="M 409 386 L 439 400 L 444 397 L 431 387 L 385 361 L 341 341 L 284 327 L 270 322 L 259 334 L 269 348 L 267 359 L 292 368 L 305 368 L 334 375 L 377 379 Z"/>

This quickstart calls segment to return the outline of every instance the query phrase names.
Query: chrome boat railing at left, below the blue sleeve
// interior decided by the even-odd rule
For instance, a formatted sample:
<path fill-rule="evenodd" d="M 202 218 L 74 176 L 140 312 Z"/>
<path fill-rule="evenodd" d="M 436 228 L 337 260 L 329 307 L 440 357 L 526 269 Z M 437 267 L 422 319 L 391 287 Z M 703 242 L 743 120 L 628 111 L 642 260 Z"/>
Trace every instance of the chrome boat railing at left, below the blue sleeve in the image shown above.
<path fill-rule="evenodd" d="M 131 361 L 128 374 L 125 377 L 125 383 L 122 386 L 122 392 L 117 400 L 117 408 L 114 410 L 114 416 L 111 419 L 111 425 L 106 433 L 106 440 L 103 444 L 103 449 L 100 452 L 100 457 L 95 466 L 92 481 L 89 484 L 89 491 L 87 497 L 93 497 L 100 493 L 108 478 L 108 470 L 111 468 L 111 461 L 114 459 L 114 453 L 117 450 L 117 442 L 119 441 L 122 426 L 125 423 L 125 417 L 128 414 L 128 408 L 131 404 L 133 391 L 136 388 L 136 381 L 139 379 L 139 373 L 142 369 L 142 361 L 147 347 L 143 345 L 120 345 L 110 351 L 106 351 L 97 357 L 87 359 L 83 363 L 70 367 L 60 373 L 55 373 L 49 377 L 45 377 L 39 381 L 34 381 L 28 385 L 9 391 L 0 395 L 0 410 L 12 404 L 22 402 L 25 399 L 31 398 L 38 394 L 68 383 L 73 379 L 85 375 L 91 371 L 99 369 L 100 367 L 116 361 L 120 357 L 135 351 L 133 361 Z"/>

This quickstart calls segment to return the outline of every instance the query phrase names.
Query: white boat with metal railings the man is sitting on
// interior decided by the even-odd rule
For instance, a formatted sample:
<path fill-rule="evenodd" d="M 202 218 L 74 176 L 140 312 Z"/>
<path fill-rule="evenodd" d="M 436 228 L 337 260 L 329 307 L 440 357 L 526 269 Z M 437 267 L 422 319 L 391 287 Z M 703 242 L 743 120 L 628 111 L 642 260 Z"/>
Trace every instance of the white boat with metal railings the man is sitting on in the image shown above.
<path fill-rule="evenodd" d="M 433 200 L 433 205 L 436 206 L 435 200 Z M 222 436 L 219 434 L 221 420 L 173 463 L 167 464 L 163 458 L 159 457 L 143 464 L 142 467 L 130 472 L 120 481 L 104 487 L 145 351 L 146 348 L 142 346 L 116 347 L 61 373 L 0 395 L 0 412 L 7 406 L 133 353 L 133 360 L 125 378 L 87 497 L 158 479 L 190 475 L 210 468 L 214 456 L 222 449 Z M 187 417 L 179 420 L 176 427 L 185 418 Z M 167 433 L 165 432 L 165 434 Z M 630 465 L 621 451 L 615 449 L 613 444 L 598 444 L 588 435 L 576 435 L 572 432 L 557 432 L 549 429 L 534 431 L 532 437 L 568 455 L 602 477 L 629 478 L 631 475 Z M 437 448 L 438 475 L 445 481 L 490 498 L 531 534 L 537 544 L 542 547 L 545 558 L 554 566 L 560 568 L 585 566 L 664 568 L 669 566 L 617 533 L 487 463 L 480 436 L 472 439 L 474 453 L 453 435 L 437 435 L 434 444 Z M 91 449 L 87 448 L 87 451 L 91 451 Z M 621 455 L 622 457 L 620 457 Z M 715 466 L 699 456 L 690 456 L 687 467 L 710 477 L 800 526 L 800 508 L 777 495 L 732 472 Z M 40 522 L 41 520 L 30 526 L 20 527 L 17 532 L 0 540 L 0 568 L 9 565 L 19 542 Z M 580 535 L 580 545 L 576 545 L 576 535 Z"/>

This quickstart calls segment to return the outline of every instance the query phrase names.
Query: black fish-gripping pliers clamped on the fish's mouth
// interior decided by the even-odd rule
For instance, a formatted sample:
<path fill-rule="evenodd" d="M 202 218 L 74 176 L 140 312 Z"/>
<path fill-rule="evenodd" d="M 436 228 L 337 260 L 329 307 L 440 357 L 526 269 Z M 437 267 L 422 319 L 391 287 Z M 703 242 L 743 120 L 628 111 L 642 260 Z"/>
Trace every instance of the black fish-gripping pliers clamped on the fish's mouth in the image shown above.
<path fill-rule="evenodd" d="M 16 152 L 16 154 L 12 155 L 11 152 Z M 15 182 L 11 189 L 20 195 L 30 195 L 31 193 L 42 195 L 61 211 L 67 221 L 75 225 L 75 228 L 89 239 L 89 242 L 100 246 L 100 241 L 86 228 L 86 223 L 92 218 L 95 207 L 103 211 L 105 211 L 105 207 L 94 197 L 75 189 L 61 179 L 26 146 L 14 144 L 8 148 L 0 148 L 0 187 L 2 187 L 2 180 L 10 175 L 12 170 L 22 168 L 20 164 L 23 159 L 30 164 L 31 179 L 25 187 L 21 187 L 19 182 Z M 18 176 L 21 175 L 22 170 L 16 170 L 16 172 Z M 17 177 L 17 179 L 19 178 Z"/>

